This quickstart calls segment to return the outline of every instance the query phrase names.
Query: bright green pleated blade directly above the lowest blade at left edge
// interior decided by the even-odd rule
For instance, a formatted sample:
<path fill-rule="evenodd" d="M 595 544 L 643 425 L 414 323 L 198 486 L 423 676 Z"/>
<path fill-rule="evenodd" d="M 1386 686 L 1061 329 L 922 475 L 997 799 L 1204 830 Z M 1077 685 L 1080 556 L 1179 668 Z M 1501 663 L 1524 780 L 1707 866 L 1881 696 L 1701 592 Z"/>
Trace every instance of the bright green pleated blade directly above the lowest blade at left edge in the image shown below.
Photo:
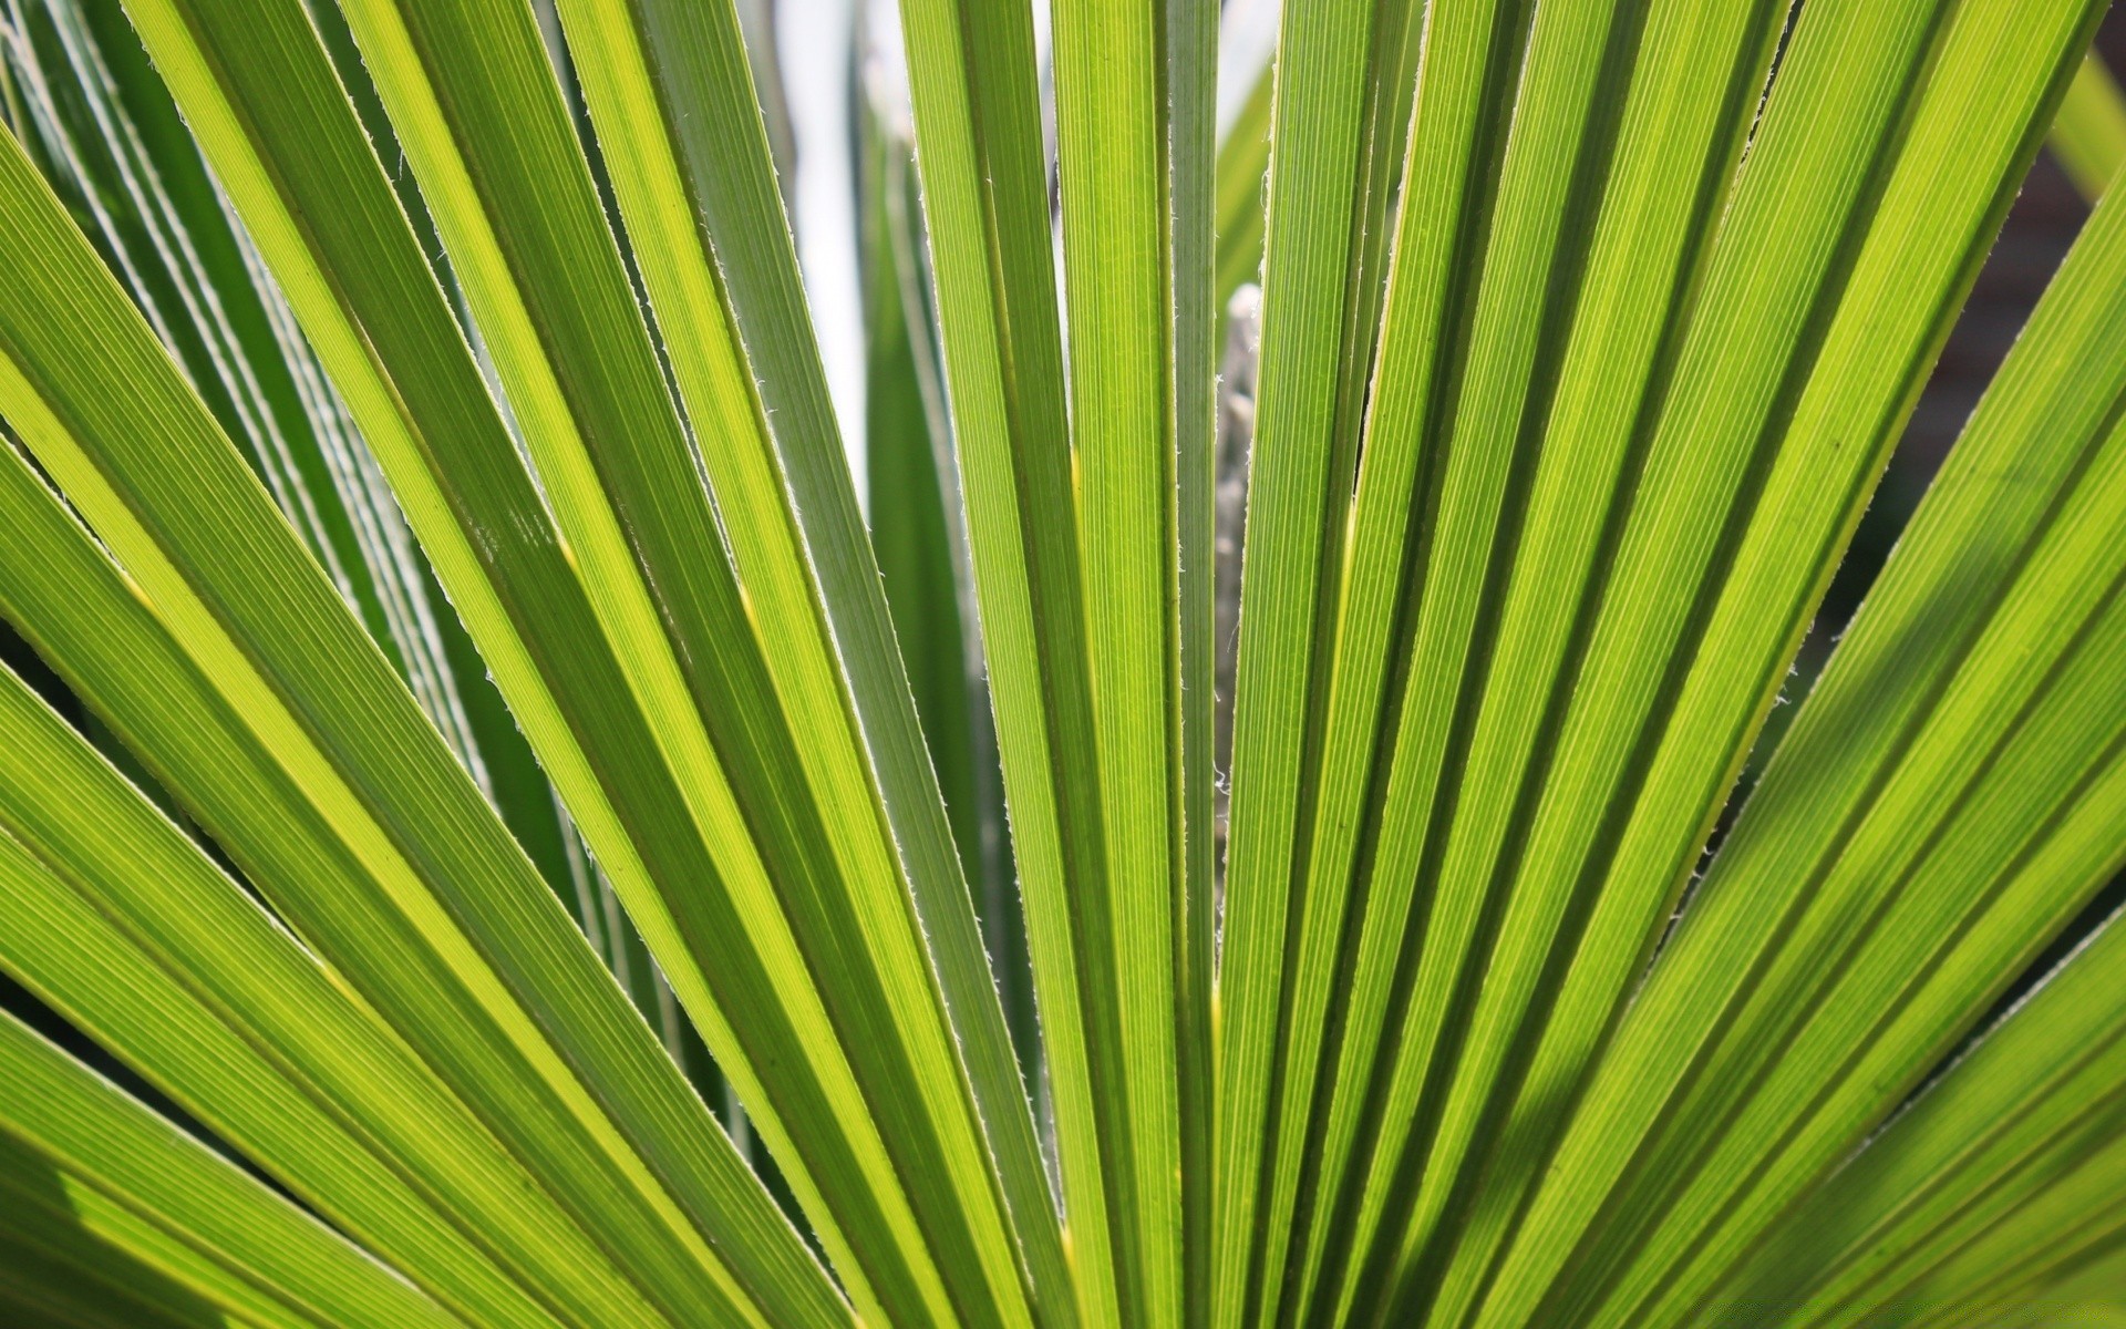
<path fill-rule="evenodd" d="M 108 651 L 130 653 L 136 670 L 157 674 L 168 646 L 157 659 L 153 627 L 142 606 L 119 587 L 115 570 L 106 570 L 102 581 L 83 576 L 83 563 L 94 559 L 85 549 L 87 536 L 70 529 L 53 500 L 38 504 L 38 495 L 28 491 L 34 481 L 19 464 L 6 483 L 11 510 L 21 519 L 15 529 L 26 546 L 40 555 L 45 568 L 70 574 L 36 578 L 26 576 L 21 566 L 9 568 L 15 585 L 23 587 L 9 595 L 11 610 L 23 608 L 26 617 L 49 623 L 51 598 L 70 595 L 85 621 L 104 627 Z M 72 540 L 74 549 L 62 540 Z M 164 689 L 172 702 L 181 691 L 179 685 Z M 232 1036 L 242 1040 L 236 1044 L 244 1053 L 236 1057 L 236 1074 L 202 1078 L 172 1065 L 168 1044 L 157 1053 L 138 1036 L 113 1042 L 149 1076 L 172 1084 L 183 1101 L 196 1104 L 204 1118 L 234 1121 L 232 1138 L 255 1148 L 276 1176 L 323 1212 L 347 1204 L 359 1216 L 378 1212 L 383 1204 L 387 1214 L 393 1206 L 423 1210 L 425 1223 L 440 1214 L 459 1227 L 459 1242 L 485 1248 L 559 1314 L 578 1320 L 653 1314 L 623 1286 L 623 1274 L 595 1238 L 572 1223 L 555 1197 L 374 1016 L 349 1004 L 334 978 L 13 676 L 0 678 L 0 731 L 11 755 L 9 770 L 0 774 L 0 829 L 11 836 L 9 853 L 15 855 L 13 893 L 43 902 L 40 908 L 30 906 L 34 923 L 15 919 L 9 951 L 43 991 L 81 1012 L 106 1038 L 113 1027 L 123 1029 L 130 1019 L 123 1004 L 136 991 L 174 991 L 179 995 L 166 999 L 157 1016 L 172 1021 L 181 1036 L 208 1046 L 230 1044 Z M 43 955 L 49 948 L 87 953 L 94 961 L 83 965 L 81 959 Z M 60 985 L 53 978 L 57 972 L 100 976 L 100 982 Z M 191 1029 L 198 1025 L 206 1029 Z M 313 1142 L 306 1133 L 257 1135 L 259 1118 L 242 1095 L 257 1093 L 259 1078 L 276 1074 L 289 1087 L 268 1095 L 266 1112 L 279 1106 L 283 1118 L 291 1114 L 321 1140 Z M 289 1106 L 289 1093 L 308 1101 Z M 308 1121 L 319 1112 L 321 1123 Z M 370 1157 L 349 1172 L 332 1165 L 334 1153 Z M 359 1191 L 338 1193 L 336 1187 L 349 1182 L 376 1184 L 378 1167 L 404 1178 L 385 1182 L 383 1201 Z M 432 1252 L 429 1259 L 438 1257 Z M 408 1267 L 423 1282 L 440 1278 L 434 1265 Z"/>

